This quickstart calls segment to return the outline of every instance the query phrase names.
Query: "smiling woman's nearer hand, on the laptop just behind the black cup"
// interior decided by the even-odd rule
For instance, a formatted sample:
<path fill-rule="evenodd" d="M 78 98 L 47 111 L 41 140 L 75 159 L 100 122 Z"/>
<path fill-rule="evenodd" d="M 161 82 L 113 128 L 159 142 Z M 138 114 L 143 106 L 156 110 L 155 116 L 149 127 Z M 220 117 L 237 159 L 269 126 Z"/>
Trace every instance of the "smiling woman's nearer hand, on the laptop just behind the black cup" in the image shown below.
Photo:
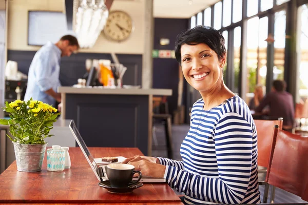
<path fill-rule="evenodd" d="M 135 170 L 140 170 L 143 176 L 163 178 L 165 175 L 166 166 L 150 162 L 147 159 L 130 161 L 128 162 L 128 165 L 134 166 Z"/>

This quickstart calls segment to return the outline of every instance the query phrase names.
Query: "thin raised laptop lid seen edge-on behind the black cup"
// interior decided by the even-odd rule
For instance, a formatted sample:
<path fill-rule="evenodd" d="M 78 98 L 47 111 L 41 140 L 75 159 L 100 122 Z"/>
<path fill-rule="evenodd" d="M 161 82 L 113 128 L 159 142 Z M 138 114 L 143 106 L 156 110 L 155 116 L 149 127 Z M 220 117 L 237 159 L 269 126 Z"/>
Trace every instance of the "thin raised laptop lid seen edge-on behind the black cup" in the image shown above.
<path fill-rule="evenodd" d="M 87 161 L 89 162 L 89 165 L 93 172 L 95 173 L 95 176 L 101 181 L 104 178 L 104 173 L 102 172 L 101 168 L 97 166 L 97 163 L 95 163 L 93 156 L 91 155 L 88 147 L 85 144 L 85 141 L 81 137 L 77 127 L 74 124 L 74 121 L 71 120 L 69 124 L 69 129 L 71 130 L 73 136 L 75 137 L 81 151 L 84 153 Z"/>

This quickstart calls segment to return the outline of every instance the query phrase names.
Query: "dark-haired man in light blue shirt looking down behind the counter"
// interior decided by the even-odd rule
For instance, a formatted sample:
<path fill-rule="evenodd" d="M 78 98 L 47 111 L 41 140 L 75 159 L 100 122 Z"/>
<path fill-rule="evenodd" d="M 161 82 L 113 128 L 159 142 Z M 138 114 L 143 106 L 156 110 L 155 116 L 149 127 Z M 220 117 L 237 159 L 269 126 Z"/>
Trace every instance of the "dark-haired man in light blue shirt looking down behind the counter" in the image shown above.
<path fill-rule="evenodd" d="M 61 103 L 61 93 L 57 87 L 59 80 L 61 57 L 70 56 L 79 49 L 78 40 L 72 35 L 63 36 L 59 42 L 48 42 L 38 50 L 29 68 L 28 86 L 24 100 L 40 100 L 43 103 L 54 105 L 55 100 Z"/>

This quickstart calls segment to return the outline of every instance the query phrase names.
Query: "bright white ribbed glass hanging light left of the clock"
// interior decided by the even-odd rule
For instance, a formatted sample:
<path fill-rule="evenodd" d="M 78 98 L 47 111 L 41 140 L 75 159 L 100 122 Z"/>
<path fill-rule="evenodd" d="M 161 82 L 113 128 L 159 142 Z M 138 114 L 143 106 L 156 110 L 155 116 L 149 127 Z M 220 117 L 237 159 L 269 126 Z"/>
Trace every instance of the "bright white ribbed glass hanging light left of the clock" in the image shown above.
<path fill-rule="evenodd" d="M 73 30 L 81 48 L 94 46 L 104 29 L 108 15 L 104 0 L 74 0 Z"/>

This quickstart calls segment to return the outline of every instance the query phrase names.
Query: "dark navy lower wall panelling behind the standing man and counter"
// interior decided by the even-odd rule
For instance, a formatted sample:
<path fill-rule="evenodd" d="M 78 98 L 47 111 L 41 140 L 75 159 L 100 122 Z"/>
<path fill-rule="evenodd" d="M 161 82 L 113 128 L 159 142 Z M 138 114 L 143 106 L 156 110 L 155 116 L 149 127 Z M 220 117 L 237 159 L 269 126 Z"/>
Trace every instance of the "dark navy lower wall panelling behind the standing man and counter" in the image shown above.
<path fill-rule="evenodd" d="M 8 50 L 8 60 L 14 60 L 18 63 L 18 71 L 28 75 L 31 61 L 36 51 L 15 51 Z M 142 73 L 142 55 L 117 54 L 120 63 L 127 67 L 123 76 L 125 85 L 141 85 Z M 76 53 L 70 57 L 61 58 L 60 81 L 62 86 L 72 86 L 77 84 L 77 79 L 82 78 L 86 73 L 85 61 L 91 59 L 109 59 L 108 53 Z"/>

